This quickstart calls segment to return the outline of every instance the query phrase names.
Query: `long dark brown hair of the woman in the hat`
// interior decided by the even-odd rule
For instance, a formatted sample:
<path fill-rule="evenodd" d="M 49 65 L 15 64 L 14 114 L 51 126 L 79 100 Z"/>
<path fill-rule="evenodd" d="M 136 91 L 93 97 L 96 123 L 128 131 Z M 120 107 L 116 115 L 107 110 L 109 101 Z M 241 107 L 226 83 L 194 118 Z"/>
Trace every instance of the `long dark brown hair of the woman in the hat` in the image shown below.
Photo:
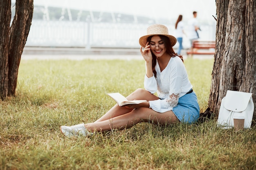
<path fill-rule="evenodd" d="M 177 53 L 174 52 L 173 47 L 171 46 L 171 41 L 170 41 L 170 39 L 169 39 L 168 37 L 164 36 L 164 35 L 158 35 L 158 36 L 159 36 L 159 37 L 161 38 L 161 40 L 164 42 L 164 46 L 165 46 L 165 48 L 166 48 L 166 53 L 167 53 L 168 55 L 170 55 L 171 57 L 176 57 L 176 56 L 180 57 L 180 59 L 181 59 L 182 62 L 183 62 L 183 57 L 182 57 L 182 55 L 178 55 Z M 147 42 L 150 42 L 152 37 L 153 37 L 153 35 L 150 36 L 150 37 L 148 37 Z M 152 51 L 151 51 L 151 53 L 152 53 Z M 155 65 L 156 65 L 156 64 L 157 64 L 157 57 L 155 56 L 154 53 L 152 53 L 152 69 L 153 69 L 153 73 L 154 73 L 155 77 L 157 76 L 157 72 L 155 71 Z"/>

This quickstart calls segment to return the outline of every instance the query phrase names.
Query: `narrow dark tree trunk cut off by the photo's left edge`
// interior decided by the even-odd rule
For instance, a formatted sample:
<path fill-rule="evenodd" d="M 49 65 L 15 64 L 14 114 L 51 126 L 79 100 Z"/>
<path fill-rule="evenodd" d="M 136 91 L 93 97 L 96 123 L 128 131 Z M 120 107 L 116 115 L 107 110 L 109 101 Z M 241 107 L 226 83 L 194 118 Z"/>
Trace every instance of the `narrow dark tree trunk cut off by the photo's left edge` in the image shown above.
<path fill-rule="evenodd" d="M 0 98 L 8 94 L 8 51 L 11 1 L 0 0 Z"/>

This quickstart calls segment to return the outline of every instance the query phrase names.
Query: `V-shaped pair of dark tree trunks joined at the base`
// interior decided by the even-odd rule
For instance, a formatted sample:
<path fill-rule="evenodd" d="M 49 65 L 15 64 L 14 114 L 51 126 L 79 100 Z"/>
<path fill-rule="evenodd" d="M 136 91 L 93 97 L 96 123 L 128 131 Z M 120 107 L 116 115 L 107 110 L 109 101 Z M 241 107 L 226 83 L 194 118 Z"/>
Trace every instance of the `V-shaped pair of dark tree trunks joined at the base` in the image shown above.
<path fill-rule="evenodd" d="M 0 98 L 14 96 L 18 68 L 29 33 L 33 0 L 16 0 L 16 12 L 11 22 L 11 1 L 0 0 Z"/>

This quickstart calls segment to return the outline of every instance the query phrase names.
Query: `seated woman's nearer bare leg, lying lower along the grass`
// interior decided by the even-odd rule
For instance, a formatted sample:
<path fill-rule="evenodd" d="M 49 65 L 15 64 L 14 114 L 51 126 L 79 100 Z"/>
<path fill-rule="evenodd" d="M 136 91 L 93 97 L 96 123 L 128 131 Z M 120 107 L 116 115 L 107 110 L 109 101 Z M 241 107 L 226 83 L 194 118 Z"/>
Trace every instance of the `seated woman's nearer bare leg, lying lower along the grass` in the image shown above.
<path fill-rule="evenodd" d="M 158 113 L 151 108 L 137 108 L 129 113 L 113 117 L 111 119 L 85 124 L 85 128 L 90 132 L 100 132 L 105 130 L 131 128 L 140 122 L 152 121 L 155 124 L 173 124 L 179 122 L 173 111 Z"/>

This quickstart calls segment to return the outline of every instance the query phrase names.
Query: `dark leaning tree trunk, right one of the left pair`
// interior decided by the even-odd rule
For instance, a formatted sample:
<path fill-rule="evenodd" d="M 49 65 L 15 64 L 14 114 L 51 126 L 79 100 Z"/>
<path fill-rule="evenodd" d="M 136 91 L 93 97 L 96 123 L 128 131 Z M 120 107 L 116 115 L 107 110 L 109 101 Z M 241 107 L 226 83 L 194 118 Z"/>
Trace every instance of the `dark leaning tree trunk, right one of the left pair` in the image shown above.
<path fill-rule="evenodd" d="M 33 0 L 16 0 L 16 11 L 11 24 L 9 40 L 8 96 L 15 95 L 20 58 L 29 34 L 33 9 Z"/>

